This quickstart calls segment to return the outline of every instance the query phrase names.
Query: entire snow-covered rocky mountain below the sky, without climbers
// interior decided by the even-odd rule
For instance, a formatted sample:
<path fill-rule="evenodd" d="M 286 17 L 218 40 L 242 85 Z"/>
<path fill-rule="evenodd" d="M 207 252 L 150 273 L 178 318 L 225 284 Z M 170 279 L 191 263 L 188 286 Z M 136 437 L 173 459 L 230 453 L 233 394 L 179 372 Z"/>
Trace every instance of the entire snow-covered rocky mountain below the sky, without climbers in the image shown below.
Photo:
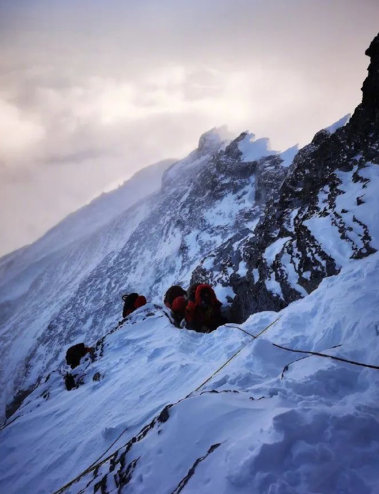
<path fill-rule="evenodd" d="M 379 35 L 367 55 L 354 115 L 302 150 L 213 129 L 150 195 L 105 195 L 0 261 L 7 493 L 94 463 L 64 492 L 378 493 L 378 368 L 272 345 L 379 364 Z M 234 324 L 173 326 L 163 295 L 191 281 Z M 119 324 L 129 290 L 150 304 Z M 96 354 L 67 391 L 76 342 Z"/>

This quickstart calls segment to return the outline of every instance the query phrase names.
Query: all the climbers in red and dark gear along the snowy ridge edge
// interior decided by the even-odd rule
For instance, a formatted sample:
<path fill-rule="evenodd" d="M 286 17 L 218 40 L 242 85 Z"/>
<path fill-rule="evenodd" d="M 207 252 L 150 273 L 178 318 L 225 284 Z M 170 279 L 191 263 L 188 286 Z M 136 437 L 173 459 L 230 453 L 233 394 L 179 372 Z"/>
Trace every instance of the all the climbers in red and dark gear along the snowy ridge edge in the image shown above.
<path fill-rule="evenodd" d="M 124 319 L 147 303 L 146 297 L 138 293 L 123 295 L 122 298 Z M 165 293 L 163 302 L 171 310 L 174 324 L 178 327 L 192 329 L 198 333 L 210 333 L 227 322 L 221 314 L 222 304 L 218 301 L 212 286 L 205 283 L 192 285 L 188 293 L 181 286 L 171 286 Z M 87 354 L 93 359 L 94 348 L 83 343 L 70 346 L 66 353 L 66 362 L 74 369 Z M 69 391 L 76 387 L 71 373 L 65 375 L 65 384 Z"/>

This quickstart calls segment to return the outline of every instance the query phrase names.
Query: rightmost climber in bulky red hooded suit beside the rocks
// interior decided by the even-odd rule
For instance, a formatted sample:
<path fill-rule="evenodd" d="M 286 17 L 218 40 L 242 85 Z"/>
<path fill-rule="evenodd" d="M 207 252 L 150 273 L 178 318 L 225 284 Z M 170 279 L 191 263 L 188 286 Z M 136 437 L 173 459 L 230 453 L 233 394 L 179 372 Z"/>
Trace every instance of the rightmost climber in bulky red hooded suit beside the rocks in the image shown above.
<path fill-rule="evenodd" d="M 221 315 L 221 302 L 218 301 L 216 294 L 208 284 L 197 284 L 189 289 L 189 300 L 185 308 L 185 321 L 188 329 L 194 329 L 198 333 L 210 333 L 222 324 L 226 319 Z"/>

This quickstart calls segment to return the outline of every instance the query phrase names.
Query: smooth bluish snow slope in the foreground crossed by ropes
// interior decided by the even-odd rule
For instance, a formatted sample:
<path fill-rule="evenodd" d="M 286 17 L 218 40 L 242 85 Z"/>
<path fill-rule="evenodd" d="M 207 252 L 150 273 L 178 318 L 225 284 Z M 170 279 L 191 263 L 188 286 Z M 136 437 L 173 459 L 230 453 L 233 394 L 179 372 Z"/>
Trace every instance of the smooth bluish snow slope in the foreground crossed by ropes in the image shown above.
<path fill-rule="evenodd" d="M 378 279 L 378 253 L 351 260 L 305 299 L 239 326 L 258 335 L 280 317 L 254 341 L 137 310 L 73 371 L 79 388 L 66 391 L 57 368 L 6 423 L 4 491 L 51 494 L 114 453 L 65 493 L 376 494 L 379 370 L 272 343 L 378 364 Z"/>

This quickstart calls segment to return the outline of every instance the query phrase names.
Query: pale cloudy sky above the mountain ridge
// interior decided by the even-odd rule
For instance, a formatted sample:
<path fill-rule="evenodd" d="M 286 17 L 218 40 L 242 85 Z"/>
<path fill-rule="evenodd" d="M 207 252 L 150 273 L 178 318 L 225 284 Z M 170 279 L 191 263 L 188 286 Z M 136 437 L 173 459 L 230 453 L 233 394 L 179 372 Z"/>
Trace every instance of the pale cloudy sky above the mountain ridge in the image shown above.
<path fill-rule="evenodd" d="M 0 0 L 0 255 L 227 124 L 307 144 L 360 101 L 378 0 Z"/>

